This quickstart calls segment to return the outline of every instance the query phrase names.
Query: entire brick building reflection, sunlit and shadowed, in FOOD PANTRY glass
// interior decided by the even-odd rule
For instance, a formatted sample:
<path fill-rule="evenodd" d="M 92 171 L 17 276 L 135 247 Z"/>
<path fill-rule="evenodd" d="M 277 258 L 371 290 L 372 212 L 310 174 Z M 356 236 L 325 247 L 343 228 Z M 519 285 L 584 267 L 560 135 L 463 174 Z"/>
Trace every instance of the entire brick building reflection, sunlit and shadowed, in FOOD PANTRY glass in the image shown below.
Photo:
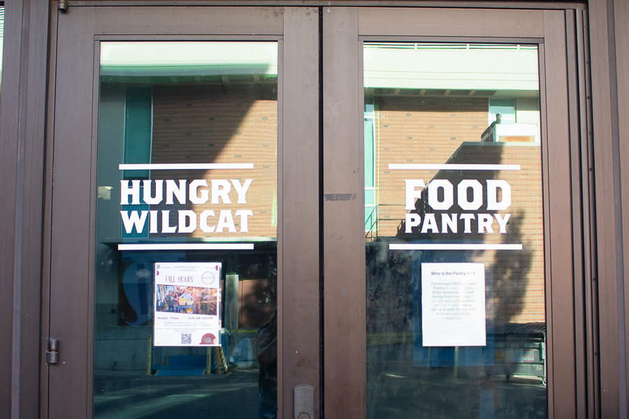
<path fill-rule="evenodd" d="M 487 99 L 484 98 L 377 98 L 376 185 L 378 237 L 398 240 L 433 240 L 475 243 L 521 243 L 521 251 L 468 251 L 469 262 L 485 263 L 487 279 L 486 315 L 496 323 L 529 323 L 545 320 L 544 243 L 542 219 L 541 147 L 535 142 L 480 142 L 487 128 Z M 389 170 L 389 163 L 486 163 L 517 164 L 521 170 L 450 171 Z M 448 179 L 454 186 L 454 205 L 447 214 L 493 214 L 486 210 L 486 179 L 503 179 L 512 191 L 512 204 L 498 214 L 511 214 L 506 233 L 421 234 L 414 228 L 405 233 L 405 179 Z M 483 205 L 463 211 L 457 205 L 456 185 L 462 179 L 477 179 L 484 186 Z M 426 190 L 417 212 L 433 212 L 442 229 L 440 214 L 426 202 Z M 499 197 L 500 200 L 500 197 Z"/>

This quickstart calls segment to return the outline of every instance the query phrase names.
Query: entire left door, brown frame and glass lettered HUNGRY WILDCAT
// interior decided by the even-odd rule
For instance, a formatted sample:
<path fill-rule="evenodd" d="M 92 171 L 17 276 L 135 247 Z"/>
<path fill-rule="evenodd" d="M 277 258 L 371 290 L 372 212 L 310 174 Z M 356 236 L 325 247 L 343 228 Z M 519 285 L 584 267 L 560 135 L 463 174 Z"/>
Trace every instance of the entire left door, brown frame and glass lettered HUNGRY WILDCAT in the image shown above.
<path fill-rule="evenodd" d="M 317 9 L 55 22 L 42 411 L 273 417 L 305 385 L 315 417 Z"/>

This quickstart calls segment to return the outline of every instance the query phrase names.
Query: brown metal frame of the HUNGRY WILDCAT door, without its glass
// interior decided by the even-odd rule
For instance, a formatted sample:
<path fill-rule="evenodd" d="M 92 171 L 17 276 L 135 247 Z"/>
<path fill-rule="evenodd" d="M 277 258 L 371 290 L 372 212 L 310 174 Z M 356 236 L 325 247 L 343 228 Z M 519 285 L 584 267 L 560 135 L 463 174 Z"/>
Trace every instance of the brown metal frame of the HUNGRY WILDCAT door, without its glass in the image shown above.
<path fill-rule="evenodd" d="M 48 135 L 52 140 L 46 193 L 50 238 L 45 241 L 43 260 L 45 282 L 50 281 L 44 305 L 50 314 L 43 319 L 41 338 L 59 339 L 59 364 L 43 367 L 42 416 L 57 418 L 71 412 L 92 417 L 92 253 L 102 39 L 274 39 L 280 43 L 277 298 L 281 343 L 277 350 L 282 391 L 278 403 L 290 416 L 293 388 L 303 384 L 316 389 L 317 400 L 319 85 L 311 82 L 319 80 L 317 9 L 71 6 L 52 25 L 57 36 L 50 64 Z"/>

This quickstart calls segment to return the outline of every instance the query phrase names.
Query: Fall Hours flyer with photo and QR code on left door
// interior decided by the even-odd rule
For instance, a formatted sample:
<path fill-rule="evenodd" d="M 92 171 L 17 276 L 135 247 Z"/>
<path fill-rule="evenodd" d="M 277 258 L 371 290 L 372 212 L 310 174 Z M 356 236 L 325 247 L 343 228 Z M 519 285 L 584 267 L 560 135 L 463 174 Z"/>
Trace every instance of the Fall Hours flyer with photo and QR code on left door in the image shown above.
<path fill-rule="evenodd" d="M 220 263 L 155 263 L 154 346 L 220 346 Z"/>

